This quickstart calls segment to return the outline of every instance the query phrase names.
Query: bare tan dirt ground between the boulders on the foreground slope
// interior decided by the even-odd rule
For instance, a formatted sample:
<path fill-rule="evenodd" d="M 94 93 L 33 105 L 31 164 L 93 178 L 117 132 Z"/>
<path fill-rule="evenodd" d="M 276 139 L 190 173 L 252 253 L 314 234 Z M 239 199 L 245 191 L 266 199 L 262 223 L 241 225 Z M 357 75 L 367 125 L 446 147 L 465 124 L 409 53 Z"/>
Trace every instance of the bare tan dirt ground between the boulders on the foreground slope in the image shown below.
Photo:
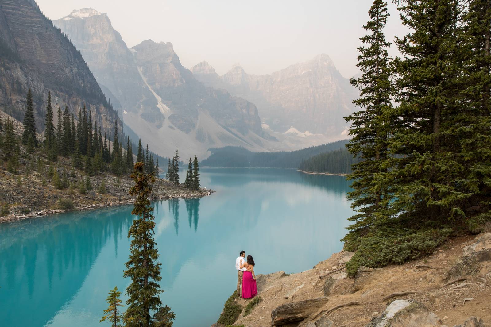
<path fill-rule="evenodd" d="M 258 292 L 262 301 L 246 317 L 241 313 L 235 325 L 271 326 L 271 313 L 279 305 L 324 296 L 325 281 L 328 277 L 333 277 L 336 281 L 327 304 L 319 309 L 319 312 L 351 301 L 361 303 L 329 312 L 327 317 L 337 327 L 364 327 L 372 317 L 381 315 L 387 305 L 397 299 L 418 300 L 424 303 L 446 326 L 462 324 L 470 316 L 481 317 L 485 323 L 491 324 L 491 261 L 479 264 L 472 274 L 464 276 L 465 281 L 444 286 L 446 282 L 453 280 L 447 279 L 447 276 L 457 260 L 462 257 L 463 247 L 471 245 L 475 242 L 474 239 L 475 236 L 454 238 L 439 246 L 427 258 L 377 269 L 358 283 L 358 290 L 354 289 L 355 279 L 346 277 L 344 269 L 321 277 L 344 267 L 344 262 L 350 257 L 350 253 L 344 251 L 333 254 L 329 259 L 317 264 L 314 269 L 303 273 L 285 276 L 280 272 L 258 276 Z M 416 265 L 427 265 L 431 268 L 417 268 Z M 460 283 L 469 285 L 452 289 Z M 392 293 L 403 291 L 420 292 L 382 300 Z M 245 307 L 249 300 L 237 301 Z"/>

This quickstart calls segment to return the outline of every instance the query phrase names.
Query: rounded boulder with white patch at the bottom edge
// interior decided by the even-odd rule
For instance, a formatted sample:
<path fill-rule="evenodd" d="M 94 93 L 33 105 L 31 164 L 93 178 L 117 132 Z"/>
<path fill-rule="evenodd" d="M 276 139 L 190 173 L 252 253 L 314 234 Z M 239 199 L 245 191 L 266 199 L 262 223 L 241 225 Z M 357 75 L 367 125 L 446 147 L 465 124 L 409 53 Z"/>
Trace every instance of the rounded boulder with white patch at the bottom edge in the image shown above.
<path fill-rule="evenodd" d="M 441 320 L 421 302 L 395 300 L 366 327 L 442 326 Z"/>

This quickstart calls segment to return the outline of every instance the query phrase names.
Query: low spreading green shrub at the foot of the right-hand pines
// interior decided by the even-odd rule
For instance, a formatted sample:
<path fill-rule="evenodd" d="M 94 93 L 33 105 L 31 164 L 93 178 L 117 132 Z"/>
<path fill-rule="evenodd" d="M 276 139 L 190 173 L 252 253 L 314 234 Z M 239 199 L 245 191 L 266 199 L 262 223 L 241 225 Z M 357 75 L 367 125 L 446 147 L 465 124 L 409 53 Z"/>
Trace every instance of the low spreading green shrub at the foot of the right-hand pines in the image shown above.
<path fill-rule="evenodd" d="M 355 276 L 359 266 L 380 268 L 403 264 L 431 254 L 452 234 L 451 229 L 374 231 L 356 239 L 356 253 L 346 263 L 346 272 Z M 353 243 L 351 244 L 353 246 Z"/>

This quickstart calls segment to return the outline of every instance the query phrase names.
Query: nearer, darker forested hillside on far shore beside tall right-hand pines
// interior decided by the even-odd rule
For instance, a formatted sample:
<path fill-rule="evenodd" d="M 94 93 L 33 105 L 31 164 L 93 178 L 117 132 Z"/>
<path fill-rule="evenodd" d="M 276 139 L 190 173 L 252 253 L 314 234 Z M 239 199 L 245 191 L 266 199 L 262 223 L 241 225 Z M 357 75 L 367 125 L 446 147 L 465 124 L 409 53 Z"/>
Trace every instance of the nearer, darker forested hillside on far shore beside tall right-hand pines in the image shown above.
<path fill-rule="evenodd" d="M 300 163 L 299 169 L 305 172 L 350 174 L 351 165 L 358 162 L 346 149 L 333 150 L 318 154 Z"/>

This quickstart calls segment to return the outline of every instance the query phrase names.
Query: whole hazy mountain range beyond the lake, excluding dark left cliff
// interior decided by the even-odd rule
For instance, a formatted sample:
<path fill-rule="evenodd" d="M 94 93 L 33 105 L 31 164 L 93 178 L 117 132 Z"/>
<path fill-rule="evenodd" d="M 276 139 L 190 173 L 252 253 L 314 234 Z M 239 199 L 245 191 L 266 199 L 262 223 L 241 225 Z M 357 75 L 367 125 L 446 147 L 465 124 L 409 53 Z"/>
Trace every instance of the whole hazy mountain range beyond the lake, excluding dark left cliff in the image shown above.
<path fill-rule="evenodd" d="M 218 76 L 205 62 L 183 67 L 170 42 L 129 49 L 108 15 L 91 8 L 54 23 L 80 49 L 124 123 L 157 153 L 178 147 L 184 156 L 205 156 L 229 145 L 292 150 L 346 138 L 342 117 L 352 112 L 353 89 L 327 55 L 271 75 L 234 66 Z"/>

